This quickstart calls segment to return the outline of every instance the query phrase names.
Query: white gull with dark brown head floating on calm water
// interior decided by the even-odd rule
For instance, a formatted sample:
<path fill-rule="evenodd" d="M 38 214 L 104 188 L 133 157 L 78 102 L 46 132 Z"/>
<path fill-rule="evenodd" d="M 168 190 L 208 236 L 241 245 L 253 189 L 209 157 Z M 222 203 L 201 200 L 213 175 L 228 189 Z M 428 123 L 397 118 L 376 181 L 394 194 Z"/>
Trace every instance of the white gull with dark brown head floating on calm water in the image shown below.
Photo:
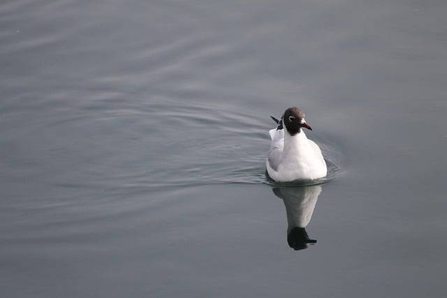
<path fill-rule="evenodd" d="M 289 107 L 281 119 L 270 117 L 277 127 L 269 131 L 272 143 L 265 161 L 268 176 L 277 182 L 325 177 L 328 167 L 321 149 L 302 130 L 312 131 L 305 120 L 305 113 L 298 107 Z"/>

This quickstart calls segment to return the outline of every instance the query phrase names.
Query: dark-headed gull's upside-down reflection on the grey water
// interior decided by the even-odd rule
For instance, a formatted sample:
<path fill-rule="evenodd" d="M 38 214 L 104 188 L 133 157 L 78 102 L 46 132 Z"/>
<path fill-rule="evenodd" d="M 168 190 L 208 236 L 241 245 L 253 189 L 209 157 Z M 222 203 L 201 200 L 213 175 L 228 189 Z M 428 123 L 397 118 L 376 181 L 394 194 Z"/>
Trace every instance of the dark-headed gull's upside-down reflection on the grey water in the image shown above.
<path fill-rule="evenodd" d="M 299 251 L 309 244 L 316 244 L 316 240 L 309 238 L 306 227 L 314 213 L 321 186 L 275 187 L 273 193 L 286 206 L 288 246 Z"/>

